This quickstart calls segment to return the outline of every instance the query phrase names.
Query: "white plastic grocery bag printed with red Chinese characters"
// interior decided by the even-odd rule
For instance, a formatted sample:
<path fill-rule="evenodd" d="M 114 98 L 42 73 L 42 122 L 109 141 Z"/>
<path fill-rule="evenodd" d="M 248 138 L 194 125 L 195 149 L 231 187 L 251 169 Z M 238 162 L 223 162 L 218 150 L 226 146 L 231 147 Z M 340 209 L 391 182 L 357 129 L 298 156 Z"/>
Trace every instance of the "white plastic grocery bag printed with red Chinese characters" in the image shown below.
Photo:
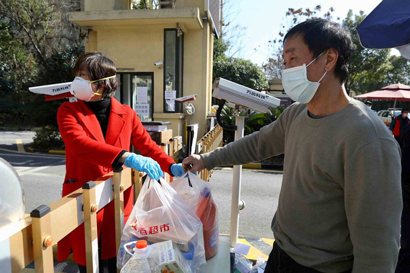
<path fill-rule="evenodd" d="M 131 258 L 124 245 L 136 240 L 157 243 L 167 240 L 178 246 L 192 272 L 204 272 L 206 266 L 202 223 L 182 197 L 160 178 L 147 179 L 122 230 L 117 267 Z"/>

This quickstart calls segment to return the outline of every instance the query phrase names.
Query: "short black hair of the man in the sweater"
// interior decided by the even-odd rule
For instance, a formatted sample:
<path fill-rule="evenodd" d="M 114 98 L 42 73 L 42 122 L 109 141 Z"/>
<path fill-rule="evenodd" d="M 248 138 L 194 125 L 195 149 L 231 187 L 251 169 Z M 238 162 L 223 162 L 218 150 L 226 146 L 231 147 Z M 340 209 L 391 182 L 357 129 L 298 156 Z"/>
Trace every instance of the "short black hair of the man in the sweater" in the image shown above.
<path fill-rule="evenodd" d="M 302 35 L 303 40 L 316 58 L 327 49 L 334 48 L 339 52 L 335 74 L 344 83 L 347 79 L 348 64 L 355 50 L 350 33 L 341 25 L 326 19 L 310 19 L 293 27 L 283 38 Z"/>

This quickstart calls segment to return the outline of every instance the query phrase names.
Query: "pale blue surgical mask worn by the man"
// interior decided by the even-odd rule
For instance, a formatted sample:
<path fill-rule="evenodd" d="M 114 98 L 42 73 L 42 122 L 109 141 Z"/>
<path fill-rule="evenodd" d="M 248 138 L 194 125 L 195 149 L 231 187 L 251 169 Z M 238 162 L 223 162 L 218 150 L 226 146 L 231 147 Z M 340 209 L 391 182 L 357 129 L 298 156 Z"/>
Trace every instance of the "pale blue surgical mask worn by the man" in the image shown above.
<path fill-rule="evenodd" d="M 320 55 L 322 54 L 323 52 L 320 53 Z M 312 100 L 313 96 L 315 96 L 320 81 L 324 75 L 326 75 L 327 71 L 324 72 L 319 81 L 310 81 L 306 74 L 306 67 L 310 66 L 320 55 L 313 59 L 307 66 L 303 64 L 302 66 L 288 68 L 282 71 L 283 89 L 292 100 L 300 103 L 308 103 Z"/>

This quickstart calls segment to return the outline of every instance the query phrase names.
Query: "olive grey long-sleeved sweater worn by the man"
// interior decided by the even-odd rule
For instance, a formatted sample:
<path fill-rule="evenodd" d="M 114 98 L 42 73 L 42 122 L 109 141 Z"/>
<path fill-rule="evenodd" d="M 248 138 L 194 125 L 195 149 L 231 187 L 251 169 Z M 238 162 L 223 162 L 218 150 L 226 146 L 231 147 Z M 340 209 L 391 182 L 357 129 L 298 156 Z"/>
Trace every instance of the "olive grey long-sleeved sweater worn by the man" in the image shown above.
<path fill-rule="evenodd" d="M 322 272 L 394 272 L 402 196 L 399 145 L 352 99 L 320 119 L 294 103 L 259 132 L 202 154 L 207 169 L 285 154 L 272 221 L 278 245 Z M 258 181 L 254 181 L 257 183 Z M 248 219 L 251 220 L 251 219 Z"/>

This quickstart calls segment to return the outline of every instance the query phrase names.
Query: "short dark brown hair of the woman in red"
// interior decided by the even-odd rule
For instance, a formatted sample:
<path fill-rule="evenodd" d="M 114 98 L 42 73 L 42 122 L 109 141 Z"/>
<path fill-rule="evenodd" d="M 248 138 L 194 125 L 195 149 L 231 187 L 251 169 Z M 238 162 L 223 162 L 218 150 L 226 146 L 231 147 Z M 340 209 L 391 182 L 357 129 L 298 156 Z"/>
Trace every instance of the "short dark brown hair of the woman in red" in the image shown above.
<path fill-rule="evenodd" d="M 104 52 L 89 52 L 81 55 L 74 66 L 74 77 L 83 69 L 91 80 L 103 79 L 116 74 L 114 62 Z M 104 85 L 103 98 L 112 97 L 118 87 L 118 79 L 111 78 L 94 82 L 97 89 Z"/>

